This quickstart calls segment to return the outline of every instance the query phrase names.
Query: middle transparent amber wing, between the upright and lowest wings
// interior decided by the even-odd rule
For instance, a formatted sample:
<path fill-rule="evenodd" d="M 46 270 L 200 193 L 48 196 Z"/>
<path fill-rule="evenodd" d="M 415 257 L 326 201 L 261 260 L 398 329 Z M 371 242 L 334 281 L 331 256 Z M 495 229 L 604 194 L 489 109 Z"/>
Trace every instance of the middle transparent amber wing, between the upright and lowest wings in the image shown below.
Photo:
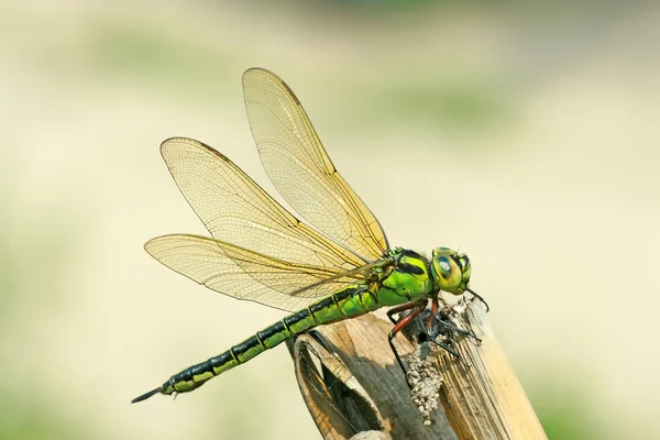
<path fill-rule="evenodd" d="M 161 153 L 213 238 L 298 264 L 346 271 L 366 263 L 300 222 L 210 146 L 173 138 L 163 142 Z"/>

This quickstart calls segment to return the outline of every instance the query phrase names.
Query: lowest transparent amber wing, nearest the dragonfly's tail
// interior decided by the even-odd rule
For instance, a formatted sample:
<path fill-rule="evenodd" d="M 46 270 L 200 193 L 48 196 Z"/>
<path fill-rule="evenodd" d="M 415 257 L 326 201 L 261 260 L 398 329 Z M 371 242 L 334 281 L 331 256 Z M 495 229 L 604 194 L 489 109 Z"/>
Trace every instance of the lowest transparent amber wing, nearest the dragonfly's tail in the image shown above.
<path fill-rule="evenodd" d="M 144 249 L 167 267 L 216 292 L 287 311 L 359 283 L 375 266 L 340 272 L 288 263 L 199 235 L 158 237 Z"/>

